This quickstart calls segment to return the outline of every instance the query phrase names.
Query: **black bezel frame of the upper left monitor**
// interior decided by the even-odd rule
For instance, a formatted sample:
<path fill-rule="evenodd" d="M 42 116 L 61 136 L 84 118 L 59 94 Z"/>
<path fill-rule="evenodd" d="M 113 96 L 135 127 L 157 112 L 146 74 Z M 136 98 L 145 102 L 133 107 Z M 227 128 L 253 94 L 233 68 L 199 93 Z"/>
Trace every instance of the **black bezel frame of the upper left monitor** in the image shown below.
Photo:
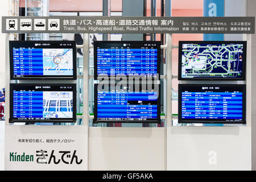
<path fill-rule="evenodd" d="M 42 75 L 42 76 L 26 76 L 26 77 L 14 77 L 14 69 L 13 69 L 13 43 L 20 43 L 20 44 L 26 44 L 26 43 L 72 43 L 72 49 L 73 49 L 73 75 L 67 76 L 67 75 Z M 46 47 L 47 48 L 47 47 Z M 76 60 L 76 41 L 71 40 L 10 40 L 9 41 L 9 52 L 10 52 L 10 79 L 11 80 L 76 80 L 77 79 L 77 60 Z"/>

